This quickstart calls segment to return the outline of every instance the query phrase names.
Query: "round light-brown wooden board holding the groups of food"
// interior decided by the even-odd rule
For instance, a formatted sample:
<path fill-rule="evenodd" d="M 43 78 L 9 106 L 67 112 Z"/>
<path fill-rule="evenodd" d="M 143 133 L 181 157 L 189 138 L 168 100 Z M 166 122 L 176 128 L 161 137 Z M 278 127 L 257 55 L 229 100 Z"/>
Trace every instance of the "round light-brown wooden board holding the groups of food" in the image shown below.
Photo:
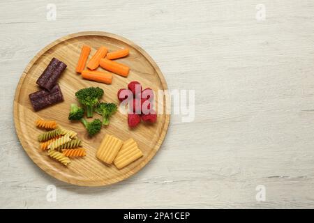
<path fill-rule="evenodd" d="M 91 47 L 89 59 L 101 45 L 107 47 L 109 52 L 129 47 L 130 54 L 124 59 L 117 60 L 130 67 L 128 77 L 112 75 L 112 84 L 110 85 L 82 79 L 75 72 L 75 66 L 83 44 Z M 34 112 L 28 95 L 38 91 L 36 80 L 53 57 L 68 65 L 59 79 L 64 102 L 47 107 L 39 112 Z M 98 68 L 98 70 L 103 69 Z M 142 169 L 154 157 L 165 138 L 170 121 L 169 114 L 158 114 L 157 123 L 154 123 L 154 125 L 140 123 L 137 128 L 131 130 L 128 128 L 127 116 L 117 112 L 110 119 L 110 125 L 102 128 L 101 132 L 92 138 L 88 136 L 82 123 L 70 123 L 68 121 L 70 104 L 73 102 L 77 103 L 75 92 L 79 89 L 99 86 L 105 91 L 102 101 L 118 104 L 117 91 L 121 88 L 126 88 L 128 82 L 133 80 L 139 81 L 143 88 L 150 87 L 153 89 L 155 95 L 158 90 L 167 89 L 165 78 L 154 60 L 142 48 L 120 36 L 100 31 L 74 33 L 59 38 L 42 49 L 24 70 L 14 99 L 14 121 L 17 136 L 31 160 L 47 174 L 66 183 L 83 186 L 117 183 Z M 165 97 L 159 100 L 157 97 L 155 98 L 156 109 L 158 109 L 158 106 L 163 106 L 163 110 L 168 111 L 170 107 L 169 95 L 166 94 Z M 46 151 L 39 149 L 40 144 L 37 141 L 37 136 L 43 130 L 35 127 L 34 123 L 38 118 L 54 119 L 63 127 L 78 132 L 78 137 L 82 139 L 84 148 L 87 148 L 87 156 L 71 159 L 68 167 L 64 167 L 59 162 L 48 157 Z M 94 114 L 94 118 L 101 117 L 98 114 Z M 113 164 L 110 166 L 104 164 L 96 158 L 96 151 L 105 134 L 112 134 L 121 140 L 135 139 L 144 156 L 120 170 L 114 167 Z"/>

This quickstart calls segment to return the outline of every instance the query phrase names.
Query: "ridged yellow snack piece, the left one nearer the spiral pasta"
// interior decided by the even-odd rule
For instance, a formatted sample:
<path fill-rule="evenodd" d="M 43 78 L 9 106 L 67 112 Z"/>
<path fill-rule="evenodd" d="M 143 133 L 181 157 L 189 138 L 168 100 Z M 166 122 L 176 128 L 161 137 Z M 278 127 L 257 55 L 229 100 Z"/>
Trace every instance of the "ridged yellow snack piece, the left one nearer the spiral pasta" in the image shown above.
<path fill-rule="evenodd" d="M 102 160 L 107 164 L 112 164 L 122 144 L 123 141 L 121 141 L 120 139 L 117 139 L 110 134 L 106 134 L 98 148 L 96 157 L 98 157 L 99 160 Z"/>

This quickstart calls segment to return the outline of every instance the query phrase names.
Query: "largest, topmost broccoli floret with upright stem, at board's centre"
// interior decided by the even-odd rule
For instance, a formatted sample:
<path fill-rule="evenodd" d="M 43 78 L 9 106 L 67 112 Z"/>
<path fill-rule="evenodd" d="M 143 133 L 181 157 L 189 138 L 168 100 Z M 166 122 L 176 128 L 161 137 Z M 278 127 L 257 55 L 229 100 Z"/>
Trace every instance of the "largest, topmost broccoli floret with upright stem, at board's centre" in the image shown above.
<path fill-rule="evenodd" d="M 98 104 L 98 100 L 103 96 L 103 89 L 99 87 L 89 87 L 81 89 L 75 93 L 77 100 L 86 107 L 87 118 L 93 117 L 94 107 Z"/>

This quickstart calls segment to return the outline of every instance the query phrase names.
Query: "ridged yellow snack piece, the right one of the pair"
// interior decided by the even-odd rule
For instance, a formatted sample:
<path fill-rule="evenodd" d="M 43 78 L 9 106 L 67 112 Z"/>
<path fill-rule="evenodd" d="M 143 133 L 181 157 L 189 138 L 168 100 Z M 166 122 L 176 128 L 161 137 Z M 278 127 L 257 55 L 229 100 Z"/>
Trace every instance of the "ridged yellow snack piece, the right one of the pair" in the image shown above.
<path fill-rule="evenodd" d="M 140 151 L 140 148 L 138 148 L 134 139 L 128 139 L 124 141 L 117 157 L 114 159 L 114 165 L 116 165 L 118 169 L 122 169 L 142 157 L 142 155 L 143 153 Z"/>

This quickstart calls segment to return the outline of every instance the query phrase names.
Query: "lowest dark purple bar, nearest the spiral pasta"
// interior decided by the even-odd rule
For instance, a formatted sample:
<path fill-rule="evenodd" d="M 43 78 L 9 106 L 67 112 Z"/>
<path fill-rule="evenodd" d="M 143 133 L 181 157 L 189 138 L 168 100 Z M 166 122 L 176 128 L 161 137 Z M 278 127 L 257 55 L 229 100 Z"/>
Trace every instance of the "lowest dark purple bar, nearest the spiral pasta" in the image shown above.
<path fill-rule="evenodd" d="M 61 91 L 57 91 L 54 93 L 50 93 L 49 95 L 45 95 L 43 98 L 38 98 L 36 100 L 31 100 L 31 105 L 35 111 L 48 107 L 50 105 L 54 105 L 58 102 L 63 101 L 63 95 Z"/>

